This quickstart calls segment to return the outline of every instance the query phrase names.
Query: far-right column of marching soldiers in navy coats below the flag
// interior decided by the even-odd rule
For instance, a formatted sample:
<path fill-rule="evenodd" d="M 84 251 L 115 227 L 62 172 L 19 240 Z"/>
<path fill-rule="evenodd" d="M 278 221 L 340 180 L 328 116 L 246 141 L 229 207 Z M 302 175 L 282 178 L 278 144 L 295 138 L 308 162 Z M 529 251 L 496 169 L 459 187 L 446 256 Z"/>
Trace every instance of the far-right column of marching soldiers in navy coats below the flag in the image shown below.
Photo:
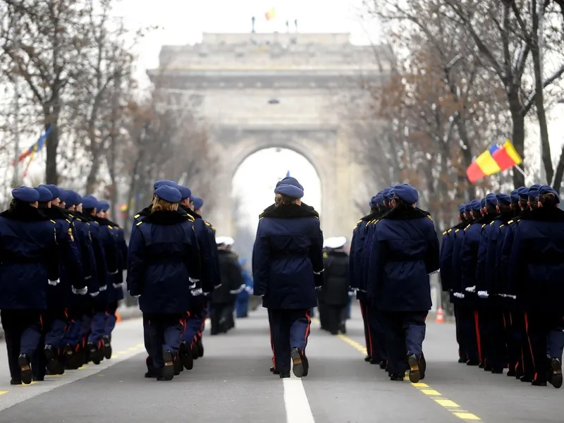
<path fill-rule="evenodd" d="M 548 185 L 488 194 L 459 207 L 443 232 L 460 363 L 562 386 L 564 211 Z"/>

